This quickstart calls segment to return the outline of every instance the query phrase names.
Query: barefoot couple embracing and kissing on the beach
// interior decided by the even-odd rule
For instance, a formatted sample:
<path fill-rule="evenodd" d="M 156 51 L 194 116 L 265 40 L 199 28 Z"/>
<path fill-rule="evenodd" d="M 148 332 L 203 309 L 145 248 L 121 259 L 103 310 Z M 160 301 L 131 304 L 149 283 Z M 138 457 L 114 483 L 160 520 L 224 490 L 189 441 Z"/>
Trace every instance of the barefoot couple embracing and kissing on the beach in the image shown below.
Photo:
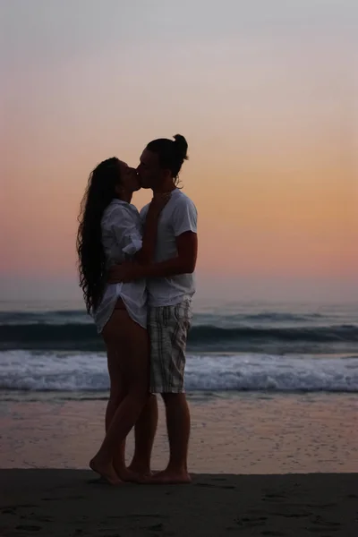
<path fill-rule="evenodd" d="M 80 285 L 107 348 L 110 394 L 106 435 L 90 467 L 107 482 L 187 483 L 190 413 L 184 393 L 185 348 L 192 322 L 197 210 L 177 187 L 188 144 L 150 141 L 135 169 L 118 158 L 90 174 L 77 236 Z M 132 193 L 151 189 L 141 212 Z M 170 456 L 150 471 L 160 394 Z M 125 439 L 134 426 L 132 463 Z"/>

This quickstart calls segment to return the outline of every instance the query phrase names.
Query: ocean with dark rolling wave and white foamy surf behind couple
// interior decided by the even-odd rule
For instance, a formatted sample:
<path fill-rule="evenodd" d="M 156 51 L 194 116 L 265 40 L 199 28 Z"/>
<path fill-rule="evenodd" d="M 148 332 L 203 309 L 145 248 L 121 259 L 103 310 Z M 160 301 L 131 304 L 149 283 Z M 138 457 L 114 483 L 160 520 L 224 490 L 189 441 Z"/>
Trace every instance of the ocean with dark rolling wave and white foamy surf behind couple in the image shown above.
<path fill-rule="evenodd" d="M 358 392 L 358 304 L 196 303 L 186 390 Z M 104 346 L 81 303 L 0 303 L 0 398 L 105 398 Z"/>

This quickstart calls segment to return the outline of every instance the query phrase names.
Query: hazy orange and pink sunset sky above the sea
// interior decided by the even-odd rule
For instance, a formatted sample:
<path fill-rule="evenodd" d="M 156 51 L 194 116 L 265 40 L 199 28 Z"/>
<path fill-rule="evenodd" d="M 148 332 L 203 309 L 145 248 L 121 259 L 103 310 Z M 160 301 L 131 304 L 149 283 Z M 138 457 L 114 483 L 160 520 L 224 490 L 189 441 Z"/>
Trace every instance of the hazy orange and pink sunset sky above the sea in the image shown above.
<path fill-rule="evenodd" d="M 2 0 L 0 20 L 0 299 L 80 297 L 90 170 L 176 132 L 198 294 L 358 299 L 356 0 Z"/>

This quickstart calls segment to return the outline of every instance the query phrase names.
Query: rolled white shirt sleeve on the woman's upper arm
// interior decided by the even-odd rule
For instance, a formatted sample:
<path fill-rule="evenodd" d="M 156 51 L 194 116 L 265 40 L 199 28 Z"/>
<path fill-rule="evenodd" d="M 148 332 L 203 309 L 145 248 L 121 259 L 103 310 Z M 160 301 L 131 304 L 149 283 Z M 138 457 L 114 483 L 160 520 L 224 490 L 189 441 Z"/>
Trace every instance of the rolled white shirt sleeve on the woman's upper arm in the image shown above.
<path fill-rule="evenodd" d="M 111 230 L 124 254 L 134 255 L 141 250 L 142 237 L 140 219 L 125 207 L 118 207 L 111 215 Z"/>

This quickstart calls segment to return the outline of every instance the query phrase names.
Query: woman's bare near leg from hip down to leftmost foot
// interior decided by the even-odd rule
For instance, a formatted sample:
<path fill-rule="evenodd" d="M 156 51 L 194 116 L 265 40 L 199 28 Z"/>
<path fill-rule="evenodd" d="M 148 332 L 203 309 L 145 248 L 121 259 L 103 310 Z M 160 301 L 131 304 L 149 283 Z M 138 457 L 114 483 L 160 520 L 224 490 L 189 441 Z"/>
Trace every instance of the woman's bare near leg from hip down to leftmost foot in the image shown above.
<path fill-rule="evenodd" d="M 118 364 L 119 378 L 126 394 L 115 410 L 106 437 L 97 455 L 90 461 L 90 467 L 108 482 L 116 484 L 119 480 L 113 466 L 115 454 L 149 397 L 149 339 L 147 331 L 135 323 L 125 310 L 113 312 L 103 330 L 103 337 L 111 362 Z"/>

